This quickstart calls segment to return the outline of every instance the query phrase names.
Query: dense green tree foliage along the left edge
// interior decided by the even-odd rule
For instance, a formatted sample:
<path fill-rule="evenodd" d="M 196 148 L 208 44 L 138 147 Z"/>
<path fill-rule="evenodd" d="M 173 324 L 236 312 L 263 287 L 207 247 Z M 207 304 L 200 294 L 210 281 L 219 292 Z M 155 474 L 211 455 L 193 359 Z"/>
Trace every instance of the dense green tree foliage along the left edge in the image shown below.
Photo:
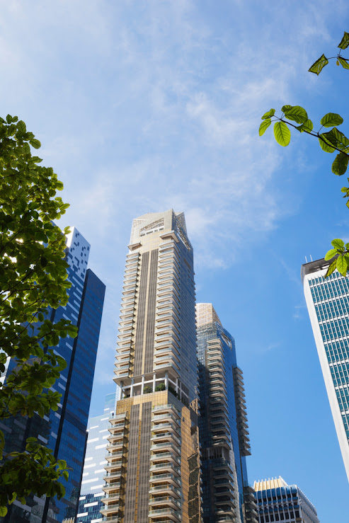
<path fill-rule="evenodd" d="M 50 309 L 68 301 L 68 264 L 64 234 L 53 220 L 69 205 L 57 190 L 63 184 L 50 167 L 32 156 L 40 142 L 18 117 L 0 118 L 0 370 L 12 358 L 16 366 L 0 384 L 0 420 L 14 415 L 43 418 L 57 410 L 61 394 L 50 387 L 66 367 L 55 354 L 59 338 L 74 338 L 77 329 L 67 320 L 50 321 Z M 16 498 L 30 493 L 62 498 L 67 464 L 52 451 L 28 438 L 25 452 L 3 456 L 0 431 L 0 515 Z"/>

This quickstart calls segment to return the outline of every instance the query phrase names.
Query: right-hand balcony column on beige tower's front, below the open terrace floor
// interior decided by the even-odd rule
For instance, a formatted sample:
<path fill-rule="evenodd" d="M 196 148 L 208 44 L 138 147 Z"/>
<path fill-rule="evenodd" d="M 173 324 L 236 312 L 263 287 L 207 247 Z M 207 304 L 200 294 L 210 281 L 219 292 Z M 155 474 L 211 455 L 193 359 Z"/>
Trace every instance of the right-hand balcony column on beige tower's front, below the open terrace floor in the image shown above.
<path fill-rule="evenodd" d="M 151 415 L 149 521 L 181 522 L 181 418 L 172 405 Z"/>

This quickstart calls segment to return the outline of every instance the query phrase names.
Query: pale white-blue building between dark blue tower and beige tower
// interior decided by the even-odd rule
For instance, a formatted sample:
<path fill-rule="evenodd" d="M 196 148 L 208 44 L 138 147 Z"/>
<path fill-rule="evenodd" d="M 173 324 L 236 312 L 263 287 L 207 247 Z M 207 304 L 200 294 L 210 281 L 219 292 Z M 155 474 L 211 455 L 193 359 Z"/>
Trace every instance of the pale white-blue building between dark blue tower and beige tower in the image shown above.
<path fill-rule="evenodd" d="M 104 467 L 108 463 L 105 454 L 107 438 L 110 435 L 110 418 L 115 415 L 116 399 L 116 393 L 105 396 L 103 414 L 88 418 L 88 438 L 76 523 L 96 523 L 103 519 L 100 510 L 104 507 L 101 498 L 104 495 Z"/>

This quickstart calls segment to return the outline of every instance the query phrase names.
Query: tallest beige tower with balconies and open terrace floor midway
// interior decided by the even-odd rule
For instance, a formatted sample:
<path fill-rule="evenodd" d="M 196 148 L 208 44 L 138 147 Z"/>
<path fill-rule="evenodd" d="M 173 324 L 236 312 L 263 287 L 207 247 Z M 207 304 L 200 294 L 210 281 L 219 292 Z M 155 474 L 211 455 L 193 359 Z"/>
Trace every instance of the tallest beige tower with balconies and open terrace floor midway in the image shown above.
<path fill-rule="evenodd" d="M 122 291 L 102 513 L 113 523 L 200 521 L 193 248 L 184 214 L 133 220 Z"/>

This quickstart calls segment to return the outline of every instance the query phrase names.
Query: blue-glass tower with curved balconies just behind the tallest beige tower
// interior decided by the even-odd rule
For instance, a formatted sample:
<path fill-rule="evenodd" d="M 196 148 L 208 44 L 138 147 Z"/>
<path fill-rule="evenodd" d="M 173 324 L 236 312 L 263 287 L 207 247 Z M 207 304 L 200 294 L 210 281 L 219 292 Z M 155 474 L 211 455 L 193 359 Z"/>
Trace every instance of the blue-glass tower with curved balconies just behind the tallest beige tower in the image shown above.
<path fill-rule="evenodd" d="M 204 523 L 257 521 L 246 456 L 251 454 L 242 371 L 234 338 L 212 304 L 197 304 L 199 434 Z"/>

